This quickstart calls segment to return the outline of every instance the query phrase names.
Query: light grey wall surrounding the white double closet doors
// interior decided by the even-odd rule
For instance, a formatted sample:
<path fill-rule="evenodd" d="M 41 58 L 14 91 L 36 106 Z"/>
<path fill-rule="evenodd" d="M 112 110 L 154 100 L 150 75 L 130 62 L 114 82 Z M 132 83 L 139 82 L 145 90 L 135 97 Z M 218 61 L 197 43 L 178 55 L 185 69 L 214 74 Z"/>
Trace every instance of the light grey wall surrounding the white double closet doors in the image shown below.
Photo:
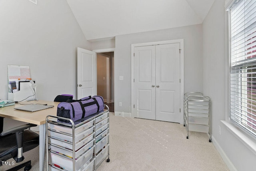
<path fill-rule="evenodd" d="M 176 39 L 184 39 L 184 91 L 203 90 L 202 24 L 119 35 L 115 46 L 115 111 L 131 110 L 131 44 Z M 119 76 L 124 76 L 124 80 L 119 80 Z"/>

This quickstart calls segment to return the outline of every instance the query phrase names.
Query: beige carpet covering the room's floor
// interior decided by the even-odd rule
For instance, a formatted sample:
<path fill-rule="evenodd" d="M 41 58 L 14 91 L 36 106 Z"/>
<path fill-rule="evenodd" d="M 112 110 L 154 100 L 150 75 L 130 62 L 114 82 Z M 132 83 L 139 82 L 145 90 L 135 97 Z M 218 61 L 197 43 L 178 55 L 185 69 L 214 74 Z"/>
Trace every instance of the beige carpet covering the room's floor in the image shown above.
<path fill-rule="evenodd" d="M 228 171 L 206 133 L 186 135 L 178 123 L 110 113 L 110 162 L 103 161 L 97 171 Z M 32 159 L 31 171 L 39 170 L 38 151 L 24 153 Z"/>

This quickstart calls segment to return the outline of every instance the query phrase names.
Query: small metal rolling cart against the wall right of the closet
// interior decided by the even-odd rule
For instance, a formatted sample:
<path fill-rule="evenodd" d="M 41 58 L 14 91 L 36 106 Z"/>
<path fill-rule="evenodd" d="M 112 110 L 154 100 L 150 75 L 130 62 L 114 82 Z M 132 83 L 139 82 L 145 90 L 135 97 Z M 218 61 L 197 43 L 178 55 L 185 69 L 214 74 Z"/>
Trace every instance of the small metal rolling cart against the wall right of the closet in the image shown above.
<path fill-rule="evenodd" d="M 184 93 L 184 126 L 188 131 L 209 133 L 209 142 L 212 142 L 211 133 L 211 99 L 202 93 Z"/>

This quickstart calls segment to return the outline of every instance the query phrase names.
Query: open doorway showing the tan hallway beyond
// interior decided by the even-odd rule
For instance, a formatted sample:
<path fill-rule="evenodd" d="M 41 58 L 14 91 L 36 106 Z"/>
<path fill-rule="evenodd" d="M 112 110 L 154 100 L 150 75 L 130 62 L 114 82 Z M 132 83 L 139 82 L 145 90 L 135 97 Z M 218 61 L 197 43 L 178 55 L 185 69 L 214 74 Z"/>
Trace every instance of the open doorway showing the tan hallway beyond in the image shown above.
<path fill-rule="evenodd" d="M 97 57 L 97 95 L 114 112 L 114 49 L 94 50 Z"/>

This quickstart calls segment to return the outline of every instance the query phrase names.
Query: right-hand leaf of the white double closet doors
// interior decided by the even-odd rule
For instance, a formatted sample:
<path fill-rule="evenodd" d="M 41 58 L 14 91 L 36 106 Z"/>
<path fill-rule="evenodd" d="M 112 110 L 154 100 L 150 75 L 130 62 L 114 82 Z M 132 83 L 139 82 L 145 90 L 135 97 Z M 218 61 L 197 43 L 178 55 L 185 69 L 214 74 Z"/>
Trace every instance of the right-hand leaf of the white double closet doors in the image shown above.
<path fill-rule="evenodd" d="M 180 44 L 156 46 L 156 120 L 180 122 Z"/>

